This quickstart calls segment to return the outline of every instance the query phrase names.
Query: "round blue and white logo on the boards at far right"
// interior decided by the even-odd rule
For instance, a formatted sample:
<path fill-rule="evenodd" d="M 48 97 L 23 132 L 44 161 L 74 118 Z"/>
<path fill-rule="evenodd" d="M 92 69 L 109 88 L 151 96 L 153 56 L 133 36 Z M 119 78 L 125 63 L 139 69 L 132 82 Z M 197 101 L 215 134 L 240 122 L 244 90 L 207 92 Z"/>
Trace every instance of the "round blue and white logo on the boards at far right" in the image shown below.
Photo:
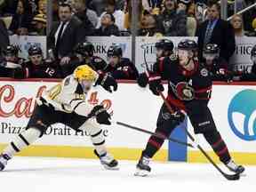
<path fill-rule="evenodd" d="M 236 93 L 228 106 L 228 124 L 241 140 L 256 140 L 256 90 Z"/>

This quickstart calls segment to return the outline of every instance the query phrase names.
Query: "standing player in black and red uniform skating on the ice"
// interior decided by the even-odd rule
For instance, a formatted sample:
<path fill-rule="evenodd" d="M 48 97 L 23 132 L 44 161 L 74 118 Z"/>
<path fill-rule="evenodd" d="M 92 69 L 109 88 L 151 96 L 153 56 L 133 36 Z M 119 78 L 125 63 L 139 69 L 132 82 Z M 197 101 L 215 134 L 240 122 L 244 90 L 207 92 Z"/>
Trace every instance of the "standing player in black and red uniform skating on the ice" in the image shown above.
<path fill-rule="evenodd" d="M 211 98 L 212 79 L 207 68 L 201 66 L 196 58 L 197 44 L 192 40 L 183 40 L 178 45 L 177 58 L 163 57 L 157 60 L 148 78 L 149 89 L 156 95 L 164 91 L 162 79 L 168 81 L 167 99 L 171 114 L 163 104 L 156 123 L 156 132 L 169 138 L 175 127 L 188 115 L 196 134 L 204 135 L 220 161 L 232 172 L 244 172 L 242 165 L 234 163 L 228 148 L 214 124 L 212 113 L 207 107 Z M 164 139 L 151 136 L 142 151 L 135 175 L 146 176 L 150 172 L 150 159 L 161 148 Z"/>

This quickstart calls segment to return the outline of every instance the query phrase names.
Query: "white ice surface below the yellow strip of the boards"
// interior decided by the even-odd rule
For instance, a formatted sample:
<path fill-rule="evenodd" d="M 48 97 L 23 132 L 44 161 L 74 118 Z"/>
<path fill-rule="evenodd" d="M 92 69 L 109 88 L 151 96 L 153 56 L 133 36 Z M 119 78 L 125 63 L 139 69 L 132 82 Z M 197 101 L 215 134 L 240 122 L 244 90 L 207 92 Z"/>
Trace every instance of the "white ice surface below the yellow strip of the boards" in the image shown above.
<path fill-rule="evenodd" d="M 0 191 L 245 192 L 256 186 L 256 166 L 246 166 L 245 176 L 229 181 L 211 164 L 152 162 L 147 178 L 133 176 L 135 164 L 119 161 L 119 171 L 106 171 L 98 160 L 15 157 L 0 172 Z"/>

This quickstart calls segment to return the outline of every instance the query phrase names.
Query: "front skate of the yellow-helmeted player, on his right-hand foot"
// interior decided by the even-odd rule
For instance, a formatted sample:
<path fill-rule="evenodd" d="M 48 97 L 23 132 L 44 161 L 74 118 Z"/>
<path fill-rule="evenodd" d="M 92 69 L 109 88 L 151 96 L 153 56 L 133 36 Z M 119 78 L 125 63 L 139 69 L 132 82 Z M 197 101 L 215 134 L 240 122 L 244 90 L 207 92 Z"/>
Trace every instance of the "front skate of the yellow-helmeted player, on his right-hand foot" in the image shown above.
<path fill-rule="evenodd" d="M 94 154 L 96 156 L 98 156 L 100 158 L 100 163 L 105 167 L 105 169 L 107 170 L 118 170 L 118 162 L 116 161 L 116 159 L 114 159 L 113 156 L 111 156 L 110 154 L 108 154 L 108 152 L 106 152 L 103 155 L 99 155 L 97 153 L 96 150 L 93 151 Z"/>

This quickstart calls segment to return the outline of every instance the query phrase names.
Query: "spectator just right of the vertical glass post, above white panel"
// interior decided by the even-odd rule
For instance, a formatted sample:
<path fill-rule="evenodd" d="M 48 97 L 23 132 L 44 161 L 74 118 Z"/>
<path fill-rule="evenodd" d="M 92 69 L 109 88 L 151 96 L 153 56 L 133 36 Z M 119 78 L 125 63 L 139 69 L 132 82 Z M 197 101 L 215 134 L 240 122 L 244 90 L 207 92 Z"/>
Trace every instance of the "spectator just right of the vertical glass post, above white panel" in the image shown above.
<path fill-rule="evenodd" d="M 140 20 L 140 25 L 138 36 L 163 36 L 158 28 L 156 28 L 156 15 L 145 12 Z"/>

